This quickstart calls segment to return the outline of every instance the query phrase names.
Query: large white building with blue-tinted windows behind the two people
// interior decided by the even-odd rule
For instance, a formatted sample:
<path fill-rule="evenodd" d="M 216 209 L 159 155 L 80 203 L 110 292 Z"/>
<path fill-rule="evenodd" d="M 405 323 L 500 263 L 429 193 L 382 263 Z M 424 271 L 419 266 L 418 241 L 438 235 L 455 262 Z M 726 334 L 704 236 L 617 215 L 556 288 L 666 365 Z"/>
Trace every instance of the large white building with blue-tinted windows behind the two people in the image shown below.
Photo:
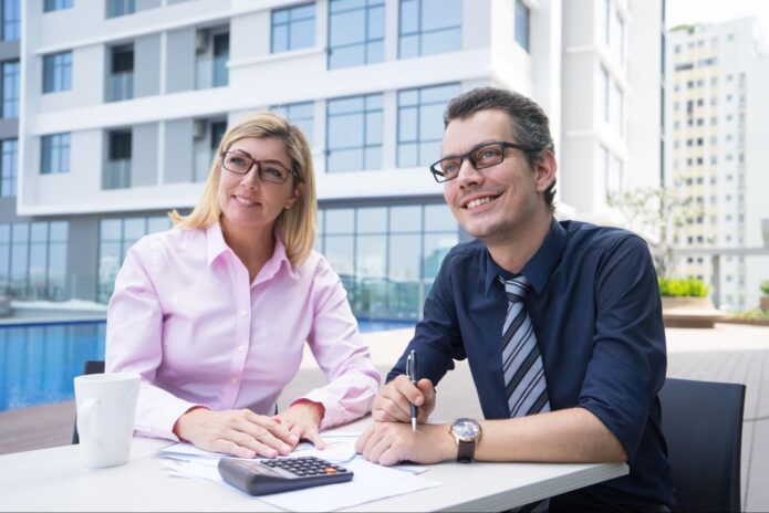
<path fill-rule="evenodd" d="M 8 4 L 23 36 L 10 44 L 18 185 L 0 219 L 0 281 L 17 297 L 106 302 L 126 249 L 195 205 L 227 125 L 258 109 L 311 142 L 316 248 L 360 317 L 418 318 L 443 256 L 467 238 L 427 170 L 446 102 L 463 91 L 509 87 L 544 107 L 562 216 L 603 216 L 610 190 L 658 176 L 659 119 L 636 103 L 648 83 L 658 94 L 658 1 Z M 630 62 L 650 44 L 647 60 Z M 43 231 L 37 243 L 56 262 L 44 286 L 30 278 Z"/>

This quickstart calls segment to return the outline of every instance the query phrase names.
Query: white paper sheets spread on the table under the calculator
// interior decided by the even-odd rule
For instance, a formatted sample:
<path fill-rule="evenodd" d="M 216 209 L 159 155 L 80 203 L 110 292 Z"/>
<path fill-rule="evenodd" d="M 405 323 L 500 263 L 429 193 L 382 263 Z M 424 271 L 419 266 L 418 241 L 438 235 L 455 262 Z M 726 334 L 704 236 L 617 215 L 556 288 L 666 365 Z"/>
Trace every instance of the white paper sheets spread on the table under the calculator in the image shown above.
<path fill-rule="evenodd" d="M 314 486 L 261 495 L 258 499 L 289 511 L 312 511 L 320 504 L 324 511 L 333 511 L 440 485 L 438 481 L 417 475 L 426 470 L 425 467 L 387 468 L 364 460 L 355 451 L 355 440 L 358 435 L 323 433 L 326 449 L 318 450 L 311 443 L 300 443 L 291 453 L 292 457 L 314 456 L 343 464 L 353 471 L 355 477 L 352 481 L 332 485 L 334 493 L 329 493 L 326 486 Z M 162 449 L 159 456 L 172 475 L 207 479 L 228 485 L 218 470 L 219 459 L 224 454 L 207 452 L 189 443 L 175 443 Z"/>

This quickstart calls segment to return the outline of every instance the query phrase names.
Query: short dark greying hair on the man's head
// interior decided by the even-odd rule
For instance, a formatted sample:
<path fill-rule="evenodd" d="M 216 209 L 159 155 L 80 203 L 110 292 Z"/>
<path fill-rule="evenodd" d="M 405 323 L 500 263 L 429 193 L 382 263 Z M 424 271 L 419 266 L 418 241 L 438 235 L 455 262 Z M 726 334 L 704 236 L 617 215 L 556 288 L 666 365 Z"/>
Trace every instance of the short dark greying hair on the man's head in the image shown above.
<path fill-rule="evenodd" d="M 555 145 L 550 135 L 550 122 L 542 107 L 528 96 L 499 87 L 476 87 L 451 100 L 444 113 L 444 127 L 454 119 L 466 119 L 479 111 L 497 109 L 505 112 L 512 124 L 512 135 L 517 143 L 538 151 L 527 153 L 529 165 L 542 158 L 544 151 L 555 154 Z M 544 191 L 544 202 L 550 211 L 555 210 L 555 180 Z"/>

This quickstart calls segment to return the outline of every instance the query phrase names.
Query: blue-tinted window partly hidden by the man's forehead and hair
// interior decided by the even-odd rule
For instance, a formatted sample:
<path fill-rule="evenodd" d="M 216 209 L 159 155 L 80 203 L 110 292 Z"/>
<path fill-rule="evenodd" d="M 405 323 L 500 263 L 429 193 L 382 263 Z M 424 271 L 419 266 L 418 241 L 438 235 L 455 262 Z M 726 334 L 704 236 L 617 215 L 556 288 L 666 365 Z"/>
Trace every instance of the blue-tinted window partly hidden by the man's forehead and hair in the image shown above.
<path fill-rule="evenodd" d="M 429 166 L 440 158 L 443 112 L 459 84 L 398 92 L 398 167 Z"/>

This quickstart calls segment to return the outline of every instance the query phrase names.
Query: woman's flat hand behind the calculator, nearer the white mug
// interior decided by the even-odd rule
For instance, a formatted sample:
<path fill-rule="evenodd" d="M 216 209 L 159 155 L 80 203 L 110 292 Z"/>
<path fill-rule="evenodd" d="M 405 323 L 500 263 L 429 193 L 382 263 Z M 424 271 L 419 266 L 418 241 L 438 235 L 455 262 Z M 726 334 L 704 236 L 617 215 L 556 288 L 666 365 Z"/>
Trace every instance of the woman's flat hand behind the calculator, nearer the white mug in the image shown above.
<path fill-rule="evenodd" d="M 176 421 L 174 433 L 200 449 L 239 458 L 287 456 L 299 443 L 299 437 L 280 422 L 249 409 L 193 408 Z"/>

